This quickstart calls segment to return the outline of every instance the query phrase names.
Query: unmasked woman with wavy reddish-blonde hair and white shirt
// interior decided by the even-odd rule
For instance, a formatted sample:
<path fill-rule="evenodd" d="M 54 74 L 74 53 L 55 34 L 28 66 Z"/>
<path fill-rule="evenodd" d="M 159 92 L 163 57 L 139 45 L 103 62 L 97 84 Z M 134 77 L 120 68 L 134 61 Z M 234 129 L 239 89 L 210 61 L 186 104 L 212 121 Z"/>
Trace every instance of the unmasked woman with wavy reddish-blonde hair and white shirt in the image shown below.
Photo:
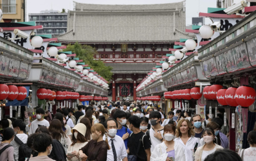
<path fill-rule="evenodd" d="M 186 161 L 194 161 L 194 148 L 199 147 L 199 138 L 194 137 L 195 133 L 191 123 L 187 119 L 178 122 L 176 129 L 176 143 L 185 148 Z"/>

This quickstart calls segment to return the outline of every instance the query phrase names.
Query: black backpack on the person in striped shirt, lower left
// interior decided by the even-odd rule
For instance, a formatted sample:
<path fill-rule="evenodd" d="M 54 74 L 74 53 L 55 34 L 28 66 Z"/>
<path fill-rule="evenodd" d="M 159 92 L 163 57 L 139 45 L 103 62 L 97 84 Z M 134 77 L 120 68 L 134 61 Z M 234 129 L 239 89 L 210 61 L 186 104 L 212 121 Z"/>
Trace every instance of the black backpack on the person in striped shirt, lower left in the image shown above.
<path fill-rule="evenodd" d="M 32 149 L 27 144 L 24 144 L 17 136 L 14 137 L 14 140 L 20 145 L 19 161 L 25 161 L 26 158 L 30 158 Z"/>

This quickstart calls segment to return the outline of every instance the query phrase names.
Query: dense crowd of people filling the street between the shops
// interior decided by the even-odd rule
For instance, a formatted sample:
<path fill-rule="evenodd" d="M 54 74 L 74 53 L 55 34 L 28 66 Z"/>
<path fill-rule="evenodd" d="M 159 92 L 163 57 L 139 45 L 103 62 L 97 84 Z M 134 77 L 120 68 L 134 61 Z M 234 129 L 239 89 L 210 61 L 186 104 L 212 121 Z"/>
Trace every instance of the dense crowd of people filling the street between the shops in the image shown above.
<path fill-rule="evenodd" d="M 205 121 L 192 111 L 158 105 L 116 102 L 57 109 L 36 109 L 29 131 L 21 119 L 0 121 L 0 161 L 253 161 L 250 148 L 238 155 L 229 148 L 229 127 L 222 109 Z"/>

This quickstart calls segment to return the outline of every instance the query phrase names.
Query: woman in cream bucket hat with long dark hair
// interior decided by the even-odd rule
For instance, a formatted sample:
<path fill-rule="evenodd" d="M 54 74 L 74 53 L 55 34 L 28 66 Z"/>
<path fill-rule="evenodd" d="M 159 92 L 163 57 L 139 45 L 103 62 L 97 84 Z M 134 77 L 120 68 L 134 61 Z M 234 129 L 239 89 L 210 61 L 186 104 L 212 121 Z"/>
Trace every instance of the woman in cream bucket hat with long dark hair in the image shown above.
<path fill-rule="evenodd" d="M 69 161 L 80 161 L 80 158 L 76 157 L 78 151 L 88 143 L 85 139 L 86 126 L 78 123 L 71 131 L 73 133 L 72 143 L 69 144 L 67 157 Z"/>

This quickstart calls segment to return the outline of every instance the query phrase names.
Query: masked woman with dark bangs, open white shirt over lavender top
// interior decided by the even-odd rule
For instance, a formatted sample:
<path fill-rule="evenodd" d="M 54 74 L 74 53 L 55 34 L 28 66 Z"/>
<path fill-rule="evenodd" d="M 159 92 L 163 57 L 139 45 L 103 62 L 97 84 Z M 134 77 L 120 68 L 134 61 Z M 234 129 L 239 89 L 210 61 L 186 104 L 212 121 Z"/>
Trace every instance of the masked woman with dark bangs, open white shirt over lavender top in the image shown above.
<path fill-rule="evenodd" d="M 185 161 L 184 148 L 174 141 L 175 126 L 167 124 L 164 127 L 164 139 L 155 146 L 150 161 Z"/>

